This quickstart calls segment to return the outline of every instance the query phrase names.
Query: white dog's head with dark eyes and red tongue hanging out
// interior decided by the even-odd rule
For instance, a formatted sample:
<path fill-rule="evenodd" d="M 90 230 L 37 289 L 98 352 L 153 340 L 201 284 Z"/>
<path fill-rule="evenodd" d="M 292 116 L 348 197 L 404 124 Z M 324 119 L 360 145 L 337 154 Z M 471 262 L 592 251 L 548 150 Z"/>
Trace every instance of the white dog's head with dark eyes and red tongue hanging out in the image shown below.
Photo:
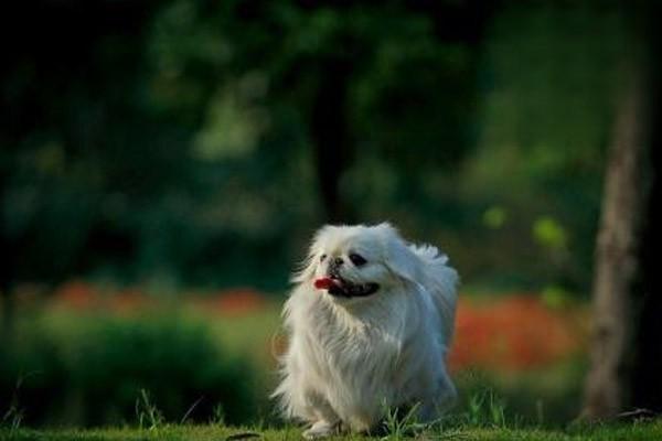
<path fill-rule="evenodd" d="M 366 298 L 417 279 L 417 257 L 389 224 L 324 226 L 293 277 L 338 299 Z"/>

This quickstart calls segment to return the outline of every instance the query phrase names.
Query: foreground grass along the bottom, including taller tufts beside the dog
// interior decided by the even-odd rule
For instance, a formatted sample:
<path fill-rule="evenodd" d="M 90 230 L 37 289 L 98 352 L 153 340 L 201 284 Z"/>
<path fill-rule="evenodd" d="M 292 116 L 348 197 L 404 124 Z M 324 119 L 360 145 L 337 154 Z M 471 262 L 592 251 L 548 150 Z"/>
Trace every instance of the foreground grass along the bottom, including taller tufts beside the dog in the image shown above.
<path fill-rule="evenodd" d="M 505 405 L 491 389 L 470 397 L 462 412 L 450 413 L 434 423 L 420 423 L 418 405 L 408 410 L 385 409 L 385 418 L 377 434 L 343 434 L 329 441 L 446 441 L 446 440 L 523 440 L 523 441 L 617 441 L 660 440 L 662 419 L 640 419 L 620 423 L 573 423 L 565 428 L 524 426 L 519 418 L 506 417 Z M 302 440 L 302 428 L 296 426 L 231 427 L 223 416 L 207 424 L 167 423 L 150 395 L 141 390 L 136 401 L 135 426 L 96 429 L 30 429 L 11 418 L 0 421 L 0 441 L 290 441 Z"/>

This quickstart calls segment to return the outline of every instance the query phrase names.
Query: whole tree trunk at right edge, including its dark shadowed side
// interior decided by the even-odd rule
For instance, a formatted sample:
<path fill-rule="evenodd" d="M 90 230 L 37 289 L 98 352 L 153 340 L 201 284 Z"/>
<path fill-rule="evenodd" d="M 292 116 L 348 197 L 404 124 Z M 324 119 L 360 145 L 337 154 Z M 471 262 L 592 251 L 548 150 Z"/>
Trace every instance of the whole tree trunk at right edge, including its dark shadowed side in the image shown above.
<path fill-rule="evenodd" d="M 636 11 L 633 79 L 626 90 L 609 151 L 602 217 L 596 245 L 590 369 L 581 416 L 607 419 L 647 409 L 662 411 L 662 299 L 656 277 L 655 206 L 660 201 L 660 39 Z M 650 12 L 650 11 L 649 11 Z"/>

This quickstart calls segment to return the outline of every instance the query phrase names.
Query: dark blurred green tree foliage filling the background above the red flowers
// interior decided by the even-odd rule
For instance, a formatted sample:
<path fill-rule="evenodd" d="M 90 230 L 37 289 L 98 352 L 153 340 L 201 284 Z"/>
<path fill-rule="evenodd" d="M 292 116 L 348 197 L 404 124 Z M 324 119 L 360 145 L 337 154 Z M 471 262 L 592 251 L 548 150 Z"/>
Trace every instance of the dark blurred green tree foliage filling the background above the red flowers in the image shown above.
<path fill-rule="evenodd" d="M 280 290 L 327 219 L 328 130 L 348 222 L 440 245 L 469 283 L 586 291 L 619 10 L 488 3 L 12 7 L 6 278 Z"/>

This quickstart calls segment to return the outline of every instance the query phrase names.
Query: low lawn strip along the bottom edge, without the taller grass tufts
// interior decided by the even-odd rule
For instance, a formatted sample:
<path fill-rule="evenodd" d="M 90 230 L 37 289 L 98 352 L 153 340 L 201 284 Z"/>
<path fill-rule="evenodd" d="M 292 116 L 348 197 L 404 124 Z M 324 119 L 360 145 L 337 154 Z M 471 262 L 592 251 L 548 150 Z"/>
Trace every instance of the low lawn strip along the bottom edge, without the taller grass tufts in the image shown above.
<path fill-rule="evenodd" d="M 301 429 L 250 429 L 223 426 L 164 426 L 157 429 L 0 429 L 0 440 L 44 440 L 44 441 L 120 441 L 120 440 L 172 440 L 172 441 L 233 441 L 233 440 L 300 440 Z M 419 432 L 416 437 L 397 434 L 383 438 L 361 435 L 335 437 L 332 440 L 532 440 L 532 441 L 600 441 L 600 440 L 662 440 L 662 421 L 638 422 L 619 426 L 574 427 L 566 430 L 508 429 L 508 428 L 449 428 Z"/>

